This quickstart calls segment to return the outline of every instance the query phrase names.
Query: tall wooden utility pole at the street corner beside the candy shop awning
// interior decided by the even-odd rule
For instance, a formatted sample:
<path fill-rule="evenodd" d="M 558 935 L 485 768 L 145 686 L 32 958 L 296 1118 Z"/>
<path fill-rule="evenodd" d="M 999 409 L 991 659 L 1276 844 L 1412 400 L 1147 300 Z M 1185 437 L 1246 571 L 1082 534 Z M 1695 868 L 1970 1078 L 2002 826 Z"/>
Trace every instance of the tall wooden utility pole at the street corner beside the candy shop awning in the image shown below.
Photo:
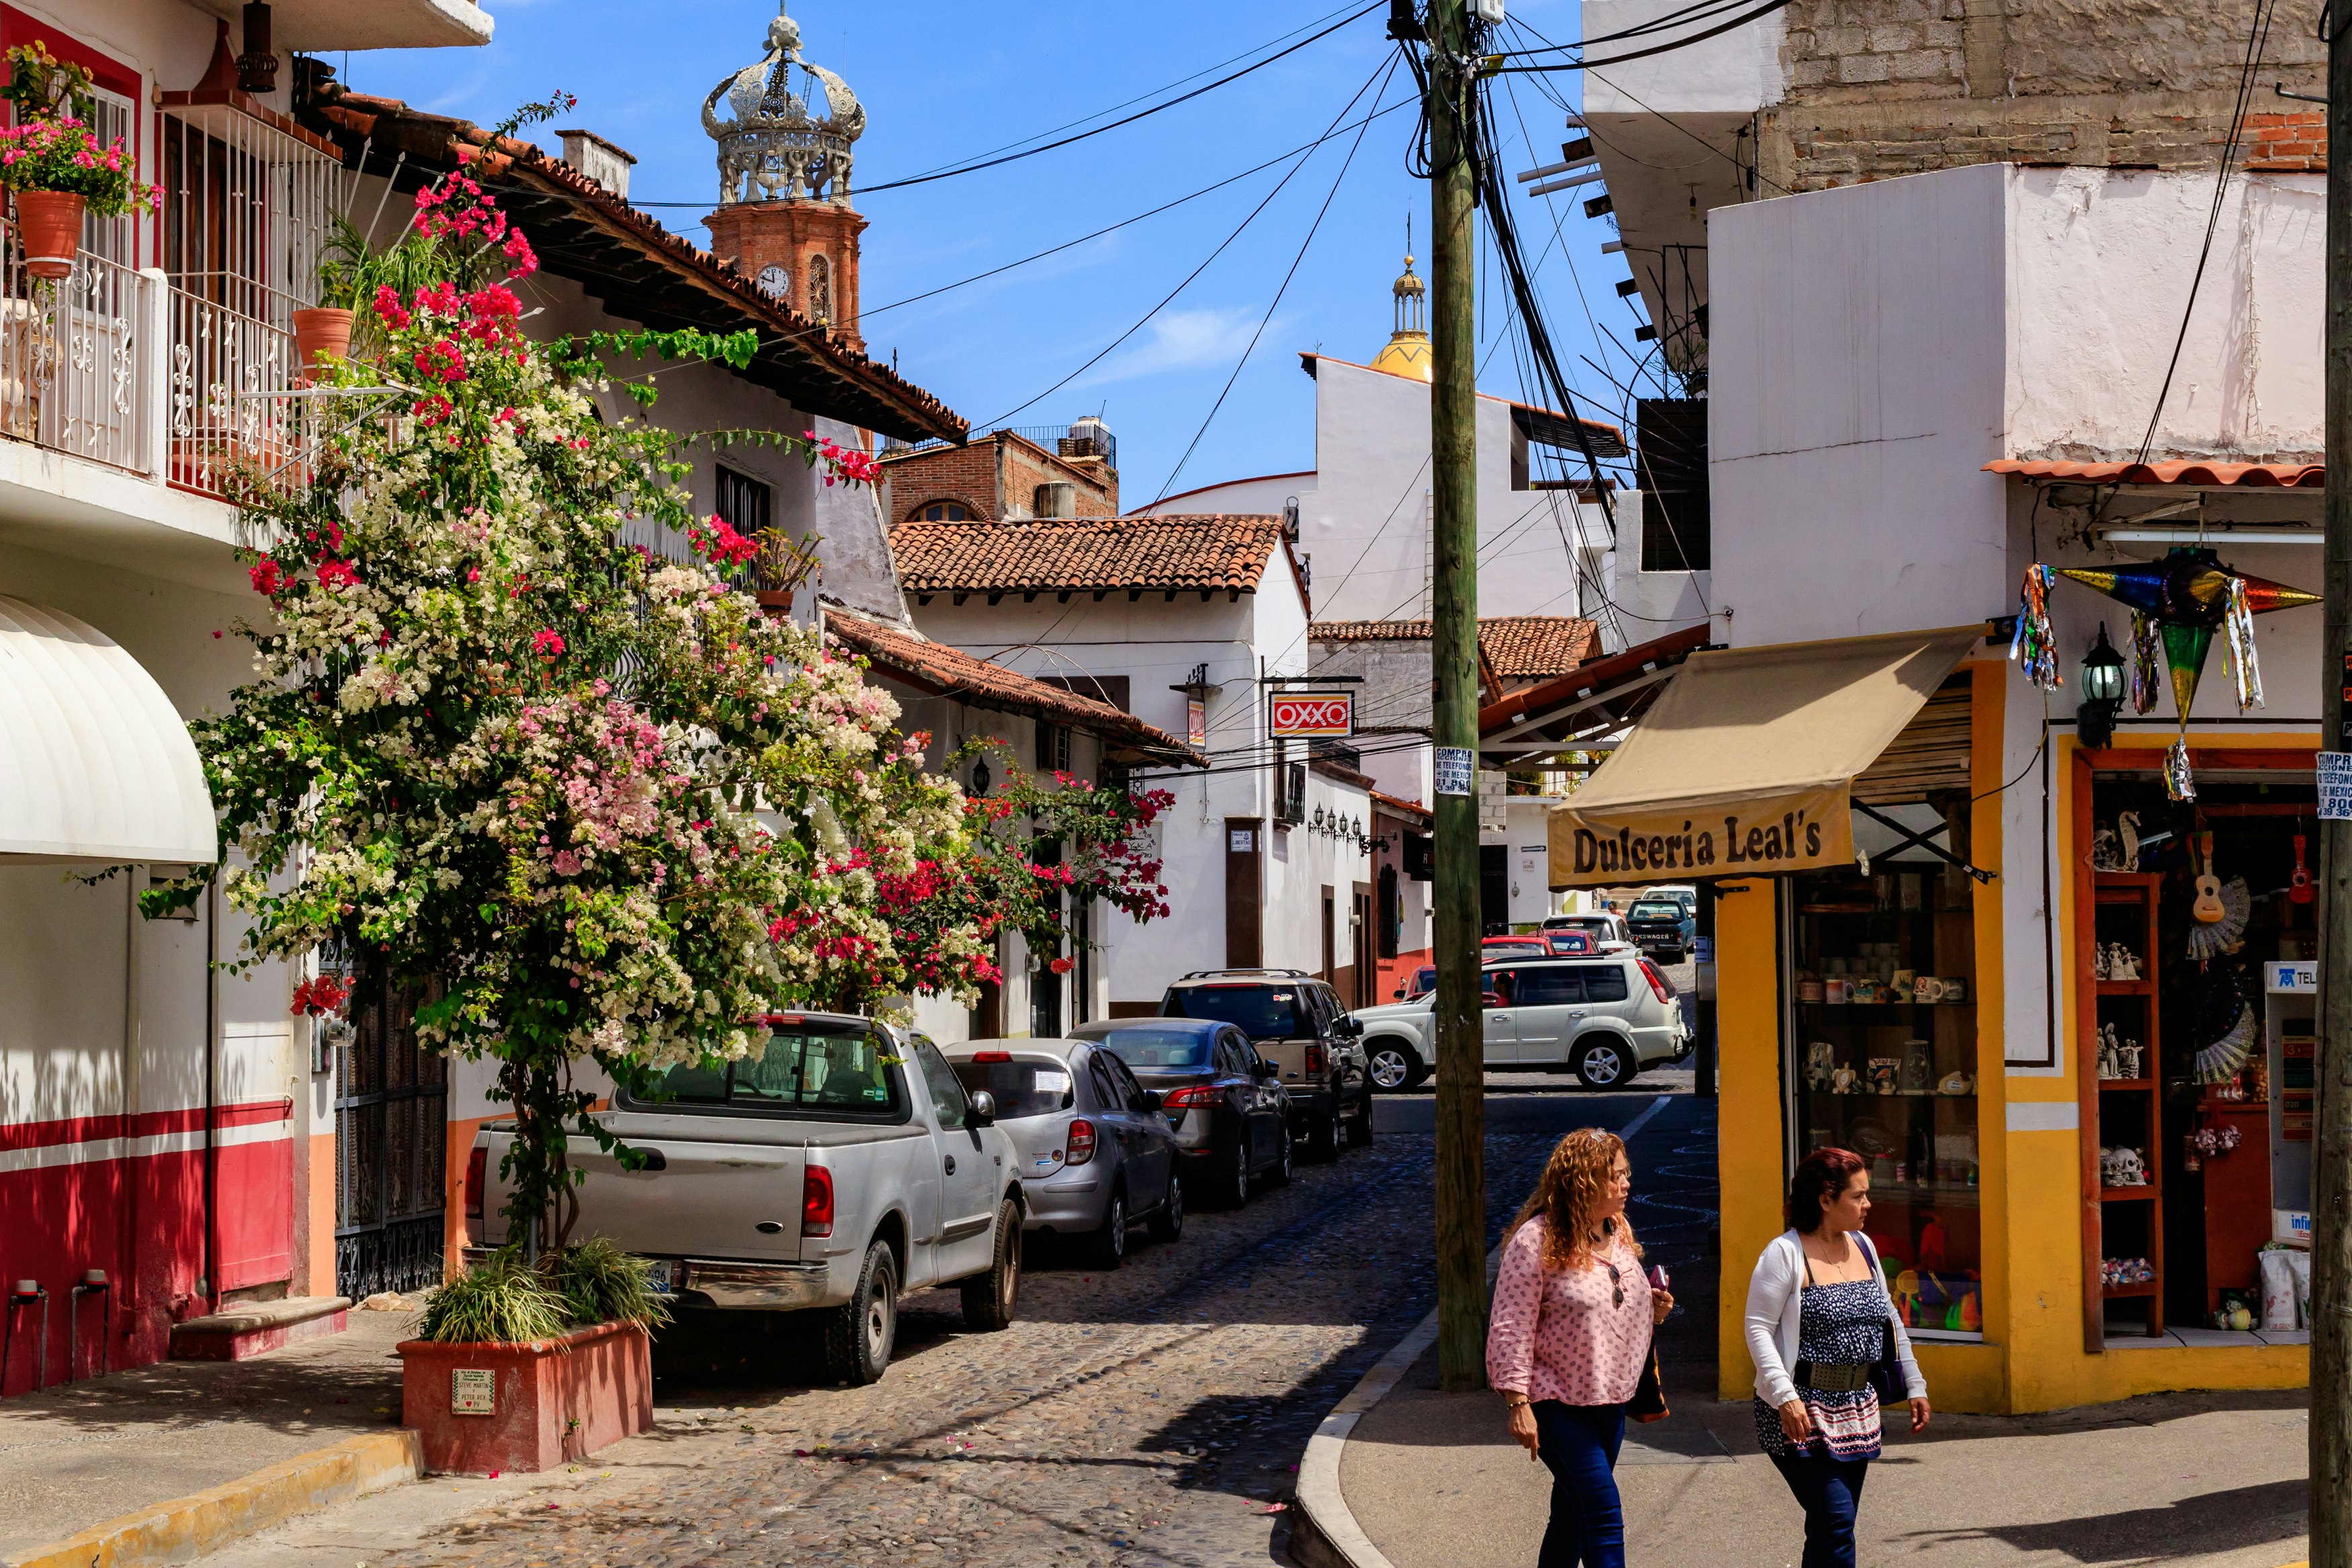
<path fill-rule="evenodd" d="M 1430 536 L 1437 698 L 1437 1380 L 1486 1387 L 1486 1025 L 1477 952 L 1477 360 L 1470 0 L 1430 0 Z M 1451 755 L 1449 755 L 1451 752 Z M 1451 792 L 1458 790 L 1458 792 Z"/>

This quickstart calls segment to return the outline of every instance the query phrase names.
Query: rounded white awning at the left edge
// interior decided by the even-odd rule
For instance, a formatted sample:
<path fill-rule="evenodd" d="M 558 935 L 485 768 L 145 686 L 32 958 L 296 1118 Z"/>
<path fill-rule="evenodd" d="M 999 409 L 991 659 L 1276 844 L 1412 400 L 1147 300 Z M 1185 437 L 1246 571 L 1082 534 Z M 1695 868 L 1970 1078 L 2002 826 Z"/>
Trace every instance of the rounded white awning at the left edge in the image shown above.
<path fill-rule="evenodd" d="M 0 860 L 212 865 L 205 766 L 111 637 L 0 595 Z"/>

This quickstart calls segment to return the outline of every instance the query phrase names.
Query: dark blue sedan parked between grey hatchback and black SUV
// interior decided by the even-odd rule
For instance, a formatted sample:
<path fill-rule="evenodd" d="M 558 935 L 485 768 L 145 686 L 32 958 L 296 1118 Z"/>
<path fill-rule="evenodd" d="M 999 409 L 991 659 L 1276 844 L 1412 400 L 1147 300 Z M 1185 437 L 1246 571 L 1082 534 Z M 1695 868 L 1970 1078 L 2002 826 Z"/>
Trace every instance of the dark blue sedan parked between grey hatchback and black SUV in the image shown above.
<path fill-rule="evenodd" d="M 1249 1037 L 1214 1018 L 1108 1018 L 1073 1030 L 1160 1095 L 1188 1190 L 1240 1208 L 1251 1180 L 1291 1180 L 1291 1095 Z"/>

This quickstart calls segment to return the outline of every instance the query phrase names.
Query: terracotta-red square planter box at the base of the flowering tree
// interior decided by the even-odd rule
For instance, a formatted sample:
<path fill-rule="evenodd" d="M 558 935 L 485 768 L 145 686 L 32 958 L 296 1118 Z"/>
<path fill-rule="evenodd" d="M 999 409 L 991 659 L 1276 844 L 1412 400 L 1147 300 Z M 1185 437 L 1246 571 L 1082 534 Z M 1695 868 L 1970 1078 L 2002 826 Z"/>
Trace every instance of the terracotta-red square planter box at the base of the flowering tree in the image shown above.
<path fill-rule="evenodd" d="M 529 1345 L 400 1345 L 400 1425 L 426 1469 L 555 1469 L 654 1425 L 654 1349 L 637 1324 Z"/>

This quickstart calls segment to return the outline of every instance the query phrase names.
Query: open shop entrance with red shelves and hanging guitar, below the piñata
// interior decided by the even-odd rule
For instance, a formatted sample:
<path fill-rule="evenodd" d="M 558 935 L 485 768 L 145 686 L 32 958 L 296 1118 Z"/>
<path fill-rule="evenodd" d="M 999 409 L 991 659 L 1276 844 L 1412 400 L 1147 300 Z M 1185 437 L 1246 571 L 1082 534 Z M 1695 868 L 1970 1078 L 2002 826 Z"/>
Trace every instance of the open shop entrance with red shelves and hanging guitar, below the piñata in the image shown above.
<path fill-rule="evenodd" d="M 2084 1262 L 2103 1281 L 2086 1293 L 2086 1338 L 2303 1333 L 2310 773 L 2209 776 L 2192 802 L 2169 799 L 2152 771 L 2084 764 L 2082 778 L 2091 856 L 2077 912 L 2093 924 L 2077 926 L 2077 999 L 2091 1001 L 2077 1048 L 2084 1168 L 2100 1194 Z"/>

